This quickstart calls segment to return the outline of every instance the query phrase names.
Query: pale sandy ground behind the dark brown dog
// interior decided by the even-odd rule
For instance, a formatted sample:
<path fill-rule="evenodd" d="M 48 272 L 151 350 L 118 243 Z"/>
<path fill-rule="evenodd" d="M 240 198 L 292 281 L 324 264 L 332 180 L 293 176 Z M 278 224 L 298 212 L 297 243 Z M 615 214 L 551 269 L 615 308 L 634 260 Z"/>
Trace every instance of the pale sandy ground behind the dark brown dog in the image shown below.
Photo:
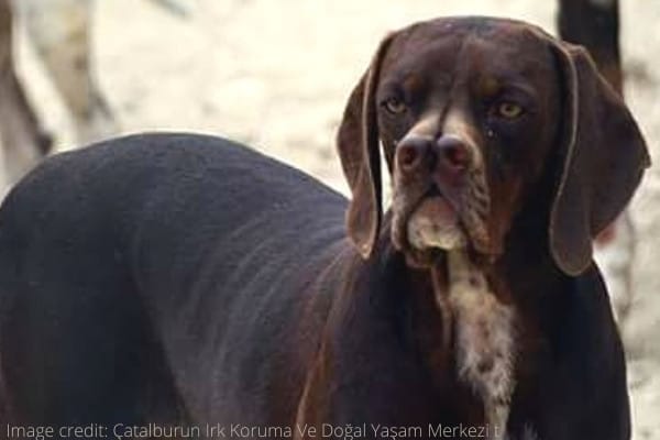
<path fill-rule="evenodd" d="M 553 30 L 554 1 L 183 0 L 188 18 L 150 2 L 98 1 L 96 63 L 122 130 L 227 135 L 345 191 L 333 136 L 344 100 L 380 38 L 447 14 L 513 16 Z M 660 2 L 622 0 L 626 96 L 658 157 Z M 24 43 L 24 42 L 23 42 Z M 61 148 L 70 121 L 28 44 L 22 73 Z M 636 439 L 660 439 L 660 170 L 632 204 L 641 240 L 624 330 Z"/>

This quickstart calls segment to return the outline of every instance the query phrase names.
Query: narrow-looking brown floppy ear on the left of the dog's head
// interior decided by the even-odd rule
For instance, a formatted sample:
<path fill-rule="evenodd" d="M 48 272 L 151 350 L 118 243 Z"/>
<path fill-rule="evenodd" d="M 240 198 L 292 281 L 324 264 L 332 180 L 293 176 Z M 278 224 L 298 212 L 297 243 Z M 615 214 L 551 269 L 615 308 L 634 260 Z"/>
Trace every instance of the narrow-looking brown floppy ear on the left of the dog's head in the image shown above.
<path fill-rule="evenodd" d="M 341 166 L 353 195 L 346 230 L 364 258 L 371 255 L 381 228 L 383 196 L 375 100 L 381 65 L 394 35 L 381 42 L 371 66 L 351 92 L 337 136 Z"/>

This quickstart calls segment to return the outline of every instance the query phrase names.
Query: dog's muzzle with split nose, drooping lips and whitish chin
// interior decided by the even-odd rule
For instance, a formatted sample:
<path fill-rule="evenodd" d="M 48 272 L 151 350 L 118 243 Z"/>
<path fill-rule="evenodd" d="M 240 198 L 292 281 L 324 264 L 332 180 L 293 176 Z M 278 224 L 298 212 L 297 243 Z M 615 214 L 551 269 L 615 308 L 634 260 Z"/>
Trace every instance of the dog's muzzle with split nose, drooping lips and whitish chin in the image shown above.
<path fill-rule="evenodd" d="M 483 229 L 475 221 L 481 218 L 475 211 L 483 209 L 472 197 L 473 156 L 454 135 L 402 140 L 395 155 L 395 245 L 416 251 L 460 249 L 472 241 L 471 229 Z"/>

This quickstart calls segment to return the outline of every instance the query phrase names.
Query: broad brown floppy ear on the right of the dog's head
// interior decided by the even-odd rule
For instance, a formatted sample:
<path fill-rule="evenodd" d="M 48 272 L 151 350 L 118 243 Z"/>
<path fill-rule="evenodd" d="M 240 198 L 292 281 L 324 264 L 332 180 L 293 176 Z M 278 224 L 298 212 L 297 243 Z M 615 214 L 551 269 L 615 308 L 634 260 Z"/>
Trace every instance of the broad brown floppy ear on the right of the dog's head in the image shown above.
<path fill-rule="evenodd" d="M 564 79 L 564 111 L 550 252 L 565 274 L 578 275 L 591 264 L 592 240 L 626 207 L 650 160 L 632 116 L 587 52 L 552 45 Z"/>

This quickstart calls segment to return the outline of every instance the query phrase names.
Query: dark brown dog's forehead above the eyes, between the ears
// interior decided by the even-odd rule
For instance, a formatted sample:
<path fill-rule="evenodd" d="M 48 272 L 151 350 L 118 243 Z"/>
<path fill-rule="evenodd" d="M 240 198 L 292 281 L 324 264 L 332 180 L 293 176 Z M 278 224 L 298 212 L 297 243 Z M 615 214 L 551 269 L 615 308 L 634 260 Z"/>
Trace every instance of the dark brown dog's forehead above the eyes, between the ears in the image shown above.
<path fill-rule="evenodd" d="M 447 81 L 480 75 L 535 81 L 554 74 L 549 41 L 541 30 L 521 22 L 439 19 L 399 31 L 383 61 L 383 72 L 393 80 L 426 73 Z"/>

